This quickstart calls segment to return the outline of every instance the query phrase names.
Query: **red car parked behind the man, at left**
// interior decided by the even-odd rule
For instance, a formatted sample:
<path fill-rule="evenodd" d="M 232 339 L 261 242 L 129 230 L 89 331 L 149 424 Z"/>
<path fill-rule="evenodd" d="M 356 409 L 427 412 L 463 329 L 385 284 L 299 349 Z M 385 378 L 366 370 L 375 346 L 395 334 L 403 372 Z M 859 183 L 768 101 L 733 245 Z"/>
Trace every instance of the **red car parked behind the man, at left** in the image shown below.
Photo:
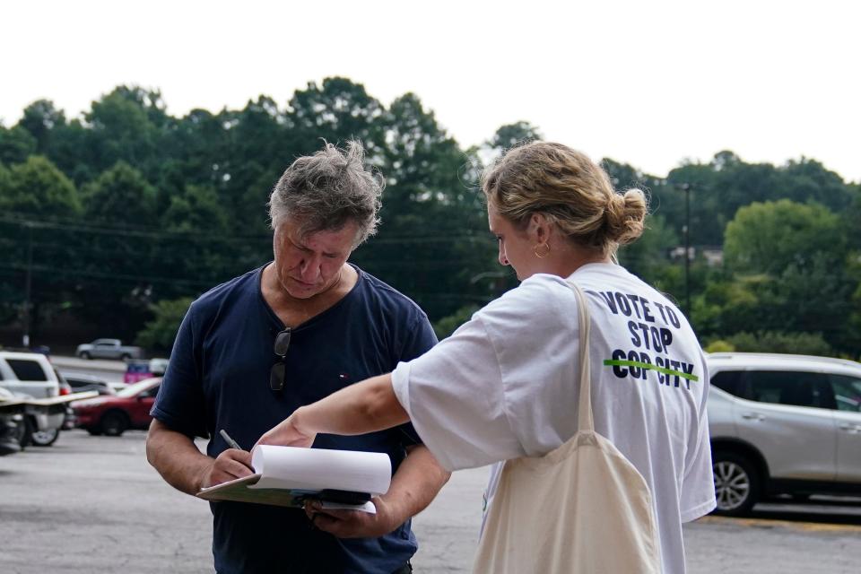
<path fill-rule="evenodd" d="M 117 391 L 113 396 L 75 401 L 75 426 L 90 434 L 118 437 L 127 429 L 146 429 L 152 421 L 150 409 L 159 392 L 161 378 L 147 378 Z"/>

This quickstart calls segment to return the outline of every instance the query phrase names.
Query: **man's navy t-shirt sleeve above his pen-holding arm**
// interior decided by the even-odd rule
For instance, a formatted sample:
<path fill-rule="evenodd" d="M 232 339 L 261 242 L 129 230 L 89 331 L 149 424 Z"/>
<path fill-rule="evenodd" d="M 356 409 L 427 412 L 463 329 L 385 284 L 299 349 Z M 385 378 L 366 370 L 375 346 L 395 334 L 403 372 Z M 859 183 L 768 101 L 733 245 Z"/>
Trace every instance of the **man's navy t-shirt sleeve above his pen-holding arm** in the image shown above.
<path fill-rule="evenodd" d="M 199 309 L 192 303 L 179 326 L 150 414 L 173 431 L 207 438 L 198 315 Z"/>

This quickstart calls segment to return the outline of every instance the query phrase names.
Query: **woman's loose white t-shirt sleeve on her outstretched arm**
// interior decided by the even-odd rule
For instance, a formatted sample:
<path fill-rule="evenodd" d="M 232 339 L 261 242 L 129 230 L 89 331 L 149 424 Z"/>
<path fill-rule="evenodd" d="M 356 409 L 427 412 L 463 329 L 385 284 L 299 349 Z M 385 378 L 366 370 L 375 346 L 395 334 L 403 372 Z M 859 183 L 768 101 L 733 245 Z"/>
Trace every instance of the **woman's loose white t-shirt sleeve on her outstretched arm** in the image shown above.
<path fill-rule="evenodd" d="M 454 471 L 523 455 L 491 339 L 474 317 L 392 373 L 398 401 L 439 464 Z"/>

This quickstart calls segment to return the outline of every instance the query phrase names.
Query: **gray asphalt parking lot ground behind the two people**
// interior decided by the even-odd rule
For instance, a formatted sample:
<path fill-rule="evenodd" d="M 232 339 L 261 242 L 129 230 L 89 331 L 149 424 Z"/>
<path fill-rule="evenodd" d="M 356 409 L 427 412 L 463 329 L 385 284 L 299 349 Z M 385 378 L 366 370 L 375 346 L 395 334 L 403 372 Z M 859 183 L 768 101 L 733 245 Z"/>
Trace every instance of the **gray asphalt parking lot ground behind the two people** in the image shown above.
<path fill-rule="evenodd" d="M 161 482 L 144 436 L 67 431 L 54 447 L 0 457 L 0 572 L 211 572 L 209 509 Z M 454 474 L 415 518 L 417 573 L 470 570 L 486 477 Z M 705 517 L 684 532 L 694 574 L 855 574 L 861 564 L 857 504 L 761 505 L 751 518 Z"/>

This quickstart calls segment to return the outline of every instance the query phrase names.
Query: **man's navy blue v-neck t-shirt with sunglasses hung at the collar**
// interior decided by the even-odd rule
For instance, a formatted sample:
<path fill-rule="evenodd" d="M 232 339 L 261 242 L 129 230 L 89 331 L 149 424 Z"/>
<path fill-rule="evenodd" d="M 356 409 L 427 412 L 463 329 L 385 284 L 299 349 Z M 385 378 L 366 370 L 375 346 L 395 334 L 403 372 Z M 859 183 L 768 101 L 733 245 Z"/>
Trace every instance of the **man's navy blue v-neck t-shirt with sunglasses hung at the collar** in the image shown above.
<path fill-rule="evenodd" d="M 263 268 L 215 287 L 192 303 L 170 355 L 152 416 L 189 437 L 209 438 L 217 457 L 227 431 L 243 448 L 303 404 L 394 370 L 437 339 L 422 309 L 362 272 L 344 299 L 291 331 L 282 391 L 269 388 L 281 320 L 263 299 Z M 385 452 L 393 472 L 412 425 L 356 437 L 318 435 L 314 448 Z M 418 548 L 410 521 L 380 538 L 339 539 L 313 529 L 301 509 L 213 502 L 213 555 L 220 574 L 368 572 L 390 574 Z"/>

